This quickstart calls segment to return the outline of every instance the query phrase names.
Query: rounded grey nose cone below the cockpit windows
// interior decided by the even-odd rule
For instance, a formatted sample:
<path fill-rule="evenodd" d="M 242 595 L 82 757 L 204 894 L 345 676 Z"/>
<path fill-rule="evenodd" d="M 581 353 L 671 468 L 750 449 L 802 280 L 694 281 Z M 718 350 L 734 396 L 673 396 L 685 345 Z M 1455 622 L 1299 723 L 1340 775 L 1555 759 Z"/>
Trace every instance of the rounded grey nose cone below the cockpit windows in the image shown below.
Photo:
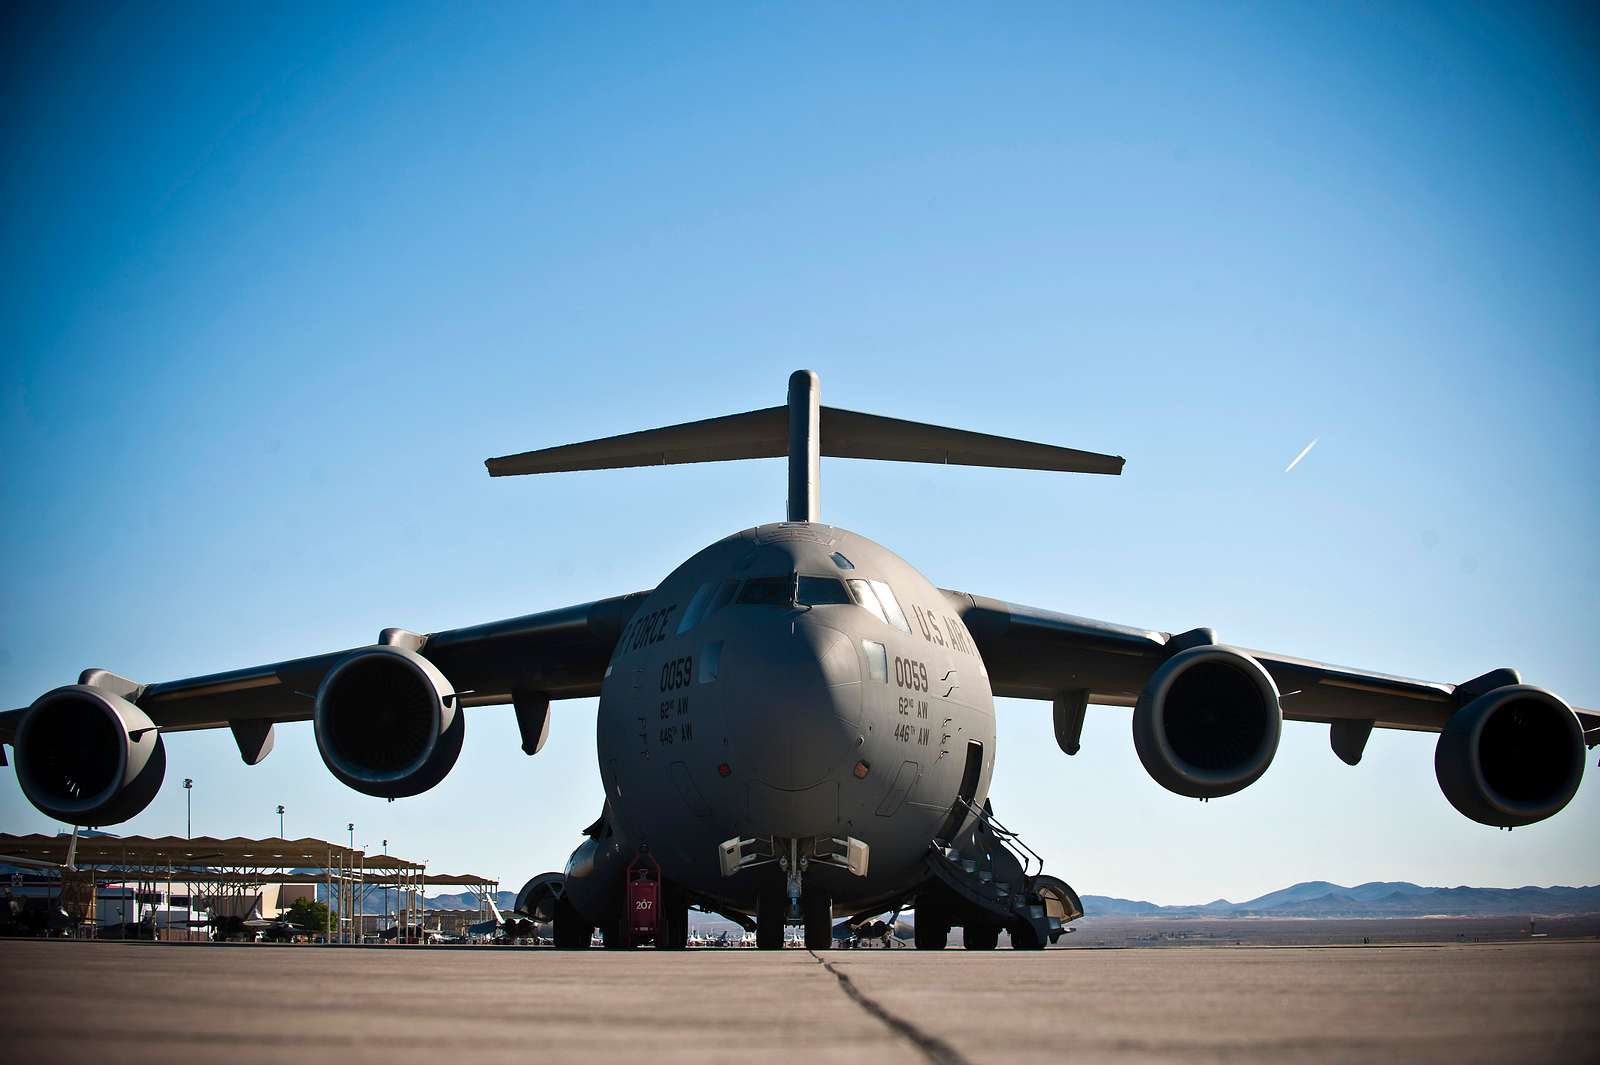
<path fill-rule="evenodd" d="M 802 792 L 830 782 L 837 796 L 861 737 L 854 641 L 803 614 L 749 636 L 749 670 L 725 696 L 733 715 L 730 760 L 752 785 L 752 808 L 760 806 L 760 788 Z M 837 798 L 834 806 L 837 816 Z"/>

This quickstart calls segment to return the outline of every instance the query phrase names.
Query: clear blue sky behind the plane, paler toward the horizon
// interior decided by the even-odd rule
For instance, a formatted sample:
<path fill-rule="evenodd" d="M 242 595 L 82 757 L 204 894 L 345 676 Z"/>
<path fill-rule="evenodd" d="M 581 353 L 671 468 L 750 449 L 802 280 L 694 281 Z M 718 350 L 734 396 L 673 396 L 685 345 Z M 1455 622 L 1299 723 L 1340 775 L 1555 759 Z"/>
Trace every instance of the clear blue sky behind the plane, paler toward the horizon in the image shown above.
<path fill-rule="evenodd" d="M 778 461 L 482 459 L 781 401 L 1128 457 L 830 461 L 934 582 L 1600 705 L 1600 32 L 1579 5 L 78 5 L 0 32 L 0 700 L 653 587 Z M 1293 473 L 1283 467 L 1312 438 Z M 1080 891 L 1600 881 L 1600 787 L 1499 833 L 1432 737 L 1286 726 L 1208 804 L 1122 710 L 1002 702 L 998 814 Z M 390 840 L 515 888 L 594 704 L 434 792 L 168 739 L 125 830 Z M 1592 761 L 1592 755 L 1589 761 Z M 1592 777 L 1594 769 L 1589 771 Z M 0 774 L 0 828 L 56 825 Z"/>

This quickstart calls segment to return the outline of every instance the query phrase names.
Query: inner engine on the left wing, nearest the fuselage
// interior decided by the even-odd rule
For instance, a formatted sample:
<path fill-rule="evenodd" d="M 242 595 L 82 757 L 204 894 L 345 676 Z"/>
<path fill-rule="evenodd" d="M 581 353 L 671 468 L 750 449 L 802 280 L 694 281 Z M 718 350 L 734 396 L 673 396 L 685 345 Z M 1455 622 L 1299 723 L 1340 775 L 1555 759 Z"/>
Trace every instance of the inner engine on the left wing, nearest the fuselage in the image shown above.
<path fill-rule="evenodd" d="M 328 771 L 378 798 L 421 795 L 443 780 L 467 724 L 438 667 L 395 646 L 333 667 L 317 689 L 314 721 Z"/>

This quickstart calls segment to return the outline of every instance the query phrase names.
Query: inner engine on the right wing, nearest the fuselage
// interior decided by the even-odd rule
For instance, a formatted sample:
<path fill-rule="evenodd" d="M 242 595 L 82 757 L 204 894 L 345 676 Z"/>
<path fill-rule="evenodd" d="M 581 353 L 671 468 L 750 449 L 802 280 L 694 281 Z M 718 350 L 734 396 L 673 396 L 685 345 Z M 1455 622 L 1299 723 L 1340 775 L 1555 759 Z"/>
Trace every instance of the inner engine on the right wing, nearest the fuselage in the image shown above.
<path fill-rule="evenodd" d="M 1181 651 L 1155 670 L 1133 710 L 1133 745 L 1157 784 L 1190 798 L 1254 784 L 1278 750 L 1278 686 L 1248 654 Z"/>

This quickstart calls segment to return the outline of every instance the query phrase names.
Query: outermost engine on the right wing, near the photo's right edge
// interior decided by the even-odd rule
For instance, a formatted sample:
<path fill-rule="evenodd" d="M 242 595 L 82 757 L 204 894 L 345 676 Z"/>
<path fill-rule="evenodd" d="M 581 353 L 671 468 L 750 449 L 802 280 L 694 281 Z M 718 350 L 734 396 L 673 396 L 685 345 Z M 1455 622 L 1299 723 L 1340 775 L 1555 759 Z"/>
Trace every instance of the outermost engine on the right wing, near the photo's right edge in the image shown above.
<path fill-rule="evenodd" d="M 1498 828 L 1555 814 L 1584 777 L 1584 729 L 1565 702 L 1506 684 L 1451 715 L 1434 748 L 1438 787 L 1472 820 Z"/>

